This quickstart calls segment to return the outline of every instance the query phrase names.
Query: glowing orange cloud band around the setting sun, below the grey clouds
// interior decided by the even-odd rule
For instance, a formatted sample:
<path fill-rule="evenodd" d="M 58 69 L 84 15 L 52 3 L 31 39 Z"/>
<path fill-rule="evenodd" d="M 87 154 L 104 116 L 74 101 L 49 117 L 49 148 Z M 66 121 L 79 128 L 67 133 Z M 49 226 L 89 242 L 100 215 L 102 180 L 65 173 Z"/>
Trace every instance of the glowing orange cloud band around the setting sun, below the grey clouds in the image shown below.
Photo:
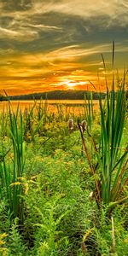
<path fill-rule="evenodd" d="M 33 55 L 0 50 L 0 89 L 6 90 L 9 95 L 60 89 L 94 90 L 92 84 L 97 90 L 99 86 L 104 90 L 105 76 L 109 81 L 112 78 L 110 64 L 107 61 L 109 69 L 105 72 L 102 61 L 90 59 L 90 55 L 104 48 L 108 49 L 108 45 L 90 49 L 71 45 Z M 123 73 L 123 70 L 120 70 L 120 73 Z"/>

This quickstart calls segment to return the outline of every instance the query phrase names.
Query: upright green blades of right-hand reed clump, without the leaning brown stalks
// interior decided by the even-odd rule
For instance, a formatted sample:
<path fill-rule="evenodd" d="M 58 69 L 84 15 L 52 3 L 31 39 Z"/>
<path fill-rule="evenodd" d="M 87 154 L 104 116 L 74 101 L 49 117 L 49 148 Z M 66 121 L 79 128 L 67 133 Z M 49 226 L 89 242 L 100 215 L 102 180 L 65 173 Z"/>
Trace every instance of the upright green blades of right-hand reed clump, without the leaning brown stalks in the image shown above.
<path fill-rule="evenodd" d="M 126 182 L 126 155 L 122 153 L 122 137 L 125 124 L 125 75 L 122 84 L 115 92 L 114 84 L 111 91 L 107 90 L 107 101 L 100 98 L 101 111 L 101 148 L 102 160 L 100 160 L 102 178 L 102 201 L 119 200 L 119 195 Z"/>

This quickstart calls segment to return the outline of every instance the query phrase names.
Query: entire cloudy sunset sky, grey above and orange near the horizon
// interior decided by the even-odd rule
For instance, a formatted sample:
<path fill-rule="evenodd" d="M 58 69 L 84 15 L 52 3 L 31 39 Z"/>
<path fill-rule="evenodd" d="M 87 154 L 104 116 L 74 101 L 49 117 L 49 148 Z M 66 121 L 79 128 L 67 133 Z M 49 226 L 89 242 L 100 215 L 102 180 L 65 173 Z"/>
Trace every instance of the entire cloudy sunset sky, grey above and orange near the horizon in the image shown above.
<path fill-rule="evenodd" d="M 0 14 L 1 94 L 105 90 L 113 41 L 115 79 L 127 68 L 127 0 L 0 0 Z"/>

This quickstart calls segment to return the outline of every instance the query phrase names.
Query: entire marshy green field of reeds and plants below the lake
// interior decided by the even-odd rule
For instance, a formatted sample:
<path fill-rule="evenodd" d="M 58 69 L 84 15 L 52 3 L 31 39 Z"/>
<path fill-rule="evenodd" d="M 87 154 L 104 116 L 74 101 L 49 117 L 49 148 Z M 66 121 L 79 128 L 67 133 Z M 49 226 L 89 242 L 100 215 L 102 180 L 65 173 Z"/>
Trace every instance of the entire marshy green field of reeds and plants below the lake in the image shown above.
<path fill-rule="evenodd" d="M 54 109 L 1 110 L 0 255 L 126 256 L 124 84 L 98 110 L 91 93 L 83 106 Z"/>

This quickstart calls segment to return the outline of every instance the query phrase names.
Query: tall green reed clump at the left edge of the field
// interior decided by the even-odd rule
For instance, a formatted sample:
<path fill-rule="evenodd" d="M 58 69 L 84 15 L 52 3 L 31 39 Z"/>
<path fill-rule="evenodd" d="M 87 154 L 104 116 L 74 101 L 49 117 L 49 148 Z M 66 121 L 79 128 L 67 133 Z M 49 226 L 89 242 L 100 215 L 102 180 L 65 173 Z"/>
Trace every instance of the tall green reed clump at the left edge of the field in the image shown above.
<path fill-rule="evenodd" d="M 9 102 L 9 123 L 6 131 L 10 140 L 12 160 L 6 160 L 4 144 L 2 142 L 2 158 L 0 162 L 1 183 L 6 191 L 9 212 L 13 217 L 23 218 L 23 189 L 19 185 L 19 178 L 23 177 L 25 166 L 25 144 L 23 142 L 23 119 L 20 108 L 16 113 L 11 110 Z"/>

